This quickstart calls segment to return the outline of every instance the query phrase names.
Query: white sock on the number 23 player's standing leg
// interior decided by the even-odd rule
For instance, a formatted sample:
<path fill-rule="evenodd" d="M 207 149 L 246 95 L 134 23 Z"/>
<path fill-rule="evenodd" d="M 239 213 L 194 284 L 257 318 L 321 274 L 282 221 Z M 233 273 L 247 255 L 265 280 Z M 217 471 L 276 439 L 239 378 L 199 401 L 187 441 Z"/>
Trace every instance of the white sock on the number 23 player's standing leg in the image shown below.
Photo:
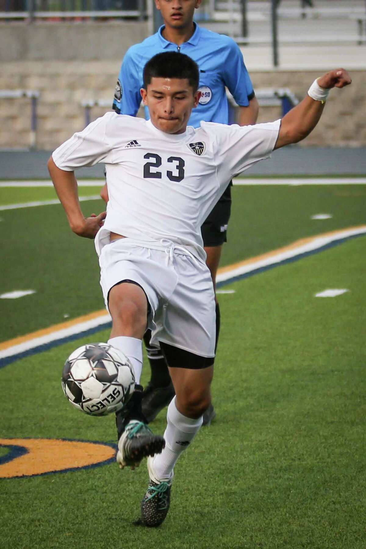
<path fill-rule="evenodd" d="M 202 416 L 191 419 L 178 412 L 174 396 L 166 414 L 167 427 L 164 433 L 165 448 L 154 457 L 154 473 L 159 480 L 171 479 L 178 457 L 189 446 L 202 425 Z"/>

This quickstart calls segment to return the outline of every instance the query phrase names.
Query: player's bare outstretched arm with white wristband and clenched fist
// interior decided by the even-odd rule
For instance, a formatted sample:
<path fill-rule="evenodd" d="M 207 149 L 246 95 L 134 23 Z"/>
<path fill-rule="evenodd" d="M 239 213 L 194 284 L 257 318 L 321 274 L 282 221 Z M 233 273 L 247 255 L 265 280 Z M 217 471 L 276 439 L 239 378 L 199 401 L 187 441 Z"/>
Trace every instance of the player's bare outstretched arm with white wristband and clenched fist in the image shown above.
<path fill-rule="evenodd" d="M 316 127 L 322 116 L 329 89 L 343 88 L 352 82 L 345 69 L 335 69 L 320 76 L 309 88 L 308 95 L 281 120 L 274 149 L 298 143 Z"/>

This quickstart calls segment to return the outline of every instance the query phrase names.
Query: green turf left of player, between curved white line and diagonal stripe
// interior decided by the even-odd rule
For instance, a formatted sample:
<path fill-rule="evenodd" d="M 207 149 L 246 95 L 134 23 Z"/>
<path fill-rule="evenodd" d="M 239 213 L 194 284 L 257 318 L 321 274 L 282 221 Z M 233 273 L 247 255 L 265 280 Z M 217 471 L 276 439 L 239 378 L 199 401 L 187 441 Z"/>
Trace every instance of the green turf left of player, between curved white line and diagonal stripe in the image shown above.
<path fill-rule="evenodd" d="M 103 211 L 103 201 L 82 203 L 85 215 Z M 67 318 L 104 309 L 94 242 L 74 235 L 61 205 L 0 212 L 3 219 L 1 293 L 33 289 L 34 299 L 3 299 L 2 340 Z M 6 234 L 6 237 L 5 237 Z"/>

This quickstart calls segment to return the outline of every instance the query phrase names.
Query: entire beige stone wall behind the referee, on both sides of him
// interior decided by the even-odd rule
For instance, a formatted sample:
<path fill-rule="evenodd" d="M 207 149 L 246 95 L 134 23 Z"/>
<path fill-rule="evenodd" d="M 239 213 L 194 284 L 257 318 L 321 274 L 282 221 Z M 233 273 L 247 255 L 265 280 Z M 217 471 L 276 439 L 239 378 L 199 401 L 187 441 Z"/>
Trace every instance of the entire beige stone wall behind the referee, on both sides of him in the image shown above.
<path fill-rule="evenodd" d="M 40 92 L 37 103 L 38 149 L 53 149 L 75 131 L 82 130 L 85 126 L 83 100 L 102 99 L 112 103 L 121 59 L 127 48 L 143 40 L 147 33 L 145 23 L 112 24 L 108 32 L 105 26 L 97 23 L 88 27 L 82 24 L 65 25 L 61 32 L 57 24 L 40 24 L 37 26 L 40 32 L 38 38 L 34 28 L 30 33 L 24 25 L 19 26 L 25 36 L 17 46 L 16 41 L 10 38 L 10 26 L 0 24 L 0 49 L 2 57 L 6 58 L 0 66 L 0 89 L 20 88 Z M 81 33 L 83 40 L 79 36 L 77 42 L 72 41 L 75 33 Z M 3 47 L 6 46 L 7 36 L 9 47 L 6 53 Z M 110 44 L 112 47 L 109 47 Z M 23 47 L 24 57 L 19 60 Z M 110 57 L 106 54 L 109 50 L 113 54 Z M 305 96 L 317 76 L 318 71 L 251 72 L 255 88 L 290 88 L 299 98 Z M 366 146 L 366 71 L 354 71 L 352 78 L 352 86 L 331 92 L 322 121 L 303 142 L 303 146 Z M 92 108 L 91 119 L 107 110 L 110 109 Z M 274 120 L 280 116 L 280 108 L 263 107 L 258 121 Z M 28 147 L 30 124 L 30 99 L 0 99 L 1 148 Z"/>

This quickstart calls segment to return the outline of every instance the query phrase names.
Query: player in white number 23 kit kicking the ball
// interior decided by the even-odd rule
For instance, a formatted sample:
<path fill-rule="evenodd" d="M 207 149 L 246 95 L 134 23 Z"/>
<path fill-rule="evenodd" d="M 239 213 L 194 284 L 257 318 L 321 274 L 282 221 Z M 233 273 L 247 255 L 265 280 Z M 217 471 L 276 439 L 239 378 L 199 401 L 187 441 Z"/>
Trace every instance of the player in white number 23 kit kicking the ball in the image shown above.
<path fill-rule="evenodd" d="M 232 177 L 274 149 L 305 138 L 322 115 L 329 89 L 351 83 L 344 69 L 327 72 L 282 120 L 240 127 L 202 122 L 187 127 L 198 104 L 198 67 L 184 54 L 155 55 L 145 65 L 150 120 L 107 113 L 75 133 L 48 162 L 72 231 L 95 238 L 100 284 L 112 316 L 108 343 L 128 356 L 137 383 L 147 326 L 165 354 L 176 396 L 164 439 L 141 419 L 138 399 L 125 411 L 117 462 L 135 467 L 148 456 L 142 522 L 167 516 L 173 469 L 210 405 L 215 355 L 215 299 L 200 226 Z M 85 218 L 74 170 L 106 165 L 106 213 Z"/>

